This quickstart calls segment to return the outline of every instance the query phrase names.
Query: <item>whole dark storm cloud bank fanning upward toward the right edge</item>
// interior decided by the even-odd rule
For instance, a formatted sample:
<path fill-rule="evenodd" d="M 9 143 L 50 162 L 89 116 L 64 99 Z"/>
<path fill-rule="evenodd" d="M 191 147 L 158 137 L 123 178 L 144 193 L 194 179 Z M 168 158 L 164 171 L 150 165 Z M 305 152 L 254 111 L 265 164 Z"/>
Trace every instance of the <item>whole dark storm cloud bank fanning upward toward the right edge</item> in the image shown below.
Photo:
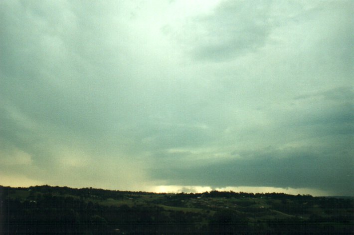
<path fill-rule="evenodd" d="M 236 149 L 225 154 L 224 158 L 216 157 L 216 161 L 208 158 L 207 153 L 204 153 L 202 159 L 188 151 L 177 154 L 160 153 L 164 156 L 158 159 L 165 158 L 160 164 L 166 167 L 164 170 L 152 171 L 152 175 L 172 185 L 208 185 L 214 188 L 245 185 L 312 188 L 332 194 L 352 195 L 352 97 L 353 90 L 350 87 L 296 97 L 294 101 L 311 99 L 311 102 L 317 104 L 310 102 L 308 105 L 320 108 L 312 109 L 309 113 L 287 112 L 289 120 L 269 127 L 266 133 L 258 130 L 258 133 L 251 135 L 250 138 L 259 135 L 263 135 L 265 139 L 269 138 L 270 140 L 266 140 L 270 144 L 268 147 L 258 150 Z M 307 109 L 306 105 L 302 106 Z M 283 139 L 273 142 L 272 139 L 279 135 Z M 241 137 L 234 145 L 240 145 L 243 141 L 245 139 Z M 302 144 L 285 144 L 286 147 L 280 147 L 282 143 L 296 141 Z M 257 144 L 254 148 L 257 148 Z"/>

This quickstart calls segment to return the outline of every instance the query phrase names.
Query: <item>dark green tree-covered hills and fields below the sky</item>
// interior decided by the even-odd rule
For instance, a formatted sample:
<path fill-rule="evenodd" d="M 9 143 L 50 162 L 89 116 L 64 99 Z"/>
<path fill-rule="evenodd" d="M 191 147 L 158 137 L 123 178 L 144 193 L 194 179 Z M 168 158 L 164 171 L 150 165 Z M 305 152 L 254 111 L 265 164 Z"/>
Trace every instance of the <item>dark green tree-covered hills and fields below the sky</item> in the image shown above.
<path fill-rule="evenodd" d="M 0 186 L 0 234 L 352 234 L 353 198 Z"/>

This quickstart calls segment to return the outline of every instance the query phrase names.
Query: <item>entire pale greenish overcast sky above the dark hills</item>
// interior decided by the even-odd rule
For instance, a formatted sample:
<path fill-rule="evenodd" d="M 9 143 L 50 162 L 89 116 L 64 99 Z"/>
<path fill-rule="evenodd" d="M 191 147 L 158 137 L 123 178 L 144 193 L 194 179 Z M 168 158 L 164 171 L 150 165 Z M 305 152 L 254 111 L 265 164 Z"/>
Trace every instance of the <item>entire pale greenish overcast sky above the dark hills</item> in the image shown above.
<path fill-rule="evenodd" d="M 0 1 L 0 185 L 354 196 L 354 1 Z"/>

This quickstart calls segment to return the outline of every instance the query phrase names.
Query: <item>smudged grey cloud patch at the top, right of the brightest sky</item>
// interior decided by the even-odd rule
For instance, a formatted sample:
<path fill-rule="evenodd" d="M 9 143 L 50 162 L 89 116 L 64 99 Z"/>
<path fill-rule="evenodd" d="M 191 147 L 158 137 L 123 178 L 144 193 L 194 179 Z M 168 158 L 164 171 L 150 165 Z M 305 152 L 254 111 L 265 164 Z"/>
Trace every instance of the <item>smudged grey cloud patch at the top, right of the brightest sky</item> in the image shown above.
<path fill-rule="evenodd" d="M 190 18 L 181 29 L 166 25 L 164 31 L 196 59 L 227 61 L 257 51 L 274 28 L 296 21 L 303 8 L 295 2 L 227 0 L 210 14 Z"/>

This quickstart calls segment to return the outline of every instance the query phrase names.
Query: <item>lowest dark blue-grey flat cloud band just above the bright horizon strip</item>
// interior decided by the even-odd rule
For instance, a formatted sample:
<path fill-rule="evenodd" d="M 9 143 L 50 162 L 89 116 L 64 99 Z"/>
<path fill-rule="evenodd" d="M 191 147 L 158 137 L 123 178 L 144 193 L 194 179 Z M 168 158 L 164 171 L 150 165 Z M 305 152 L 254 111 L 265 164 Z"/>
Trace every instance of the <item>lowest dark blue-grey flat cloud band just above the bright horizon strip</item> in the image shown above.
<path fill-rule="evenodd" d="M 321 156 L 299 149 L 280 153 L 270 151 L 264 155 L 249 153 L 253 158 L 195 164 L 187 168 L 169 166 L 151 174 L 173 185 L 313 188 L 331 194 L 352 195 L 351 153 Z"/>

